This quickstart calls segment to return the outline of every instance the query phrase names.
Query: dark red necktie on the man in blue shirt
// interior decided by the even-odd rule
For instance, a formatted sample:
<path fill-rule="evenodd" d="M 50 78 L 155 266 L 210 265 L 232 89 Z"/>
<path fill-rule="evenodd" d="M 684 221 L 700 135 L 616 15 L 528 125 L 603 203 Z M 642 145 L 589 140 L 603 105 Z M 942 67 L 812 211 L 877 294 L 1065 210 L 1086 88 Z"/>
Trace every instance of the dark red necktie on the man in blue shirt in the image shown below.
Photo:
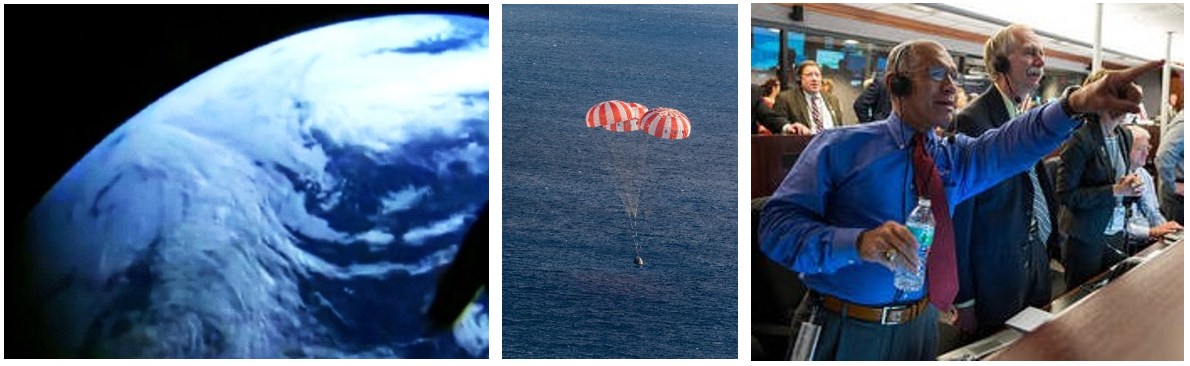
<path fill-rule="evenodd" d="M 926 139 L 921 133 L 913 135 L 913 185 L 916 185 L 919 196 L 929 198 L 931 213 L 934 214 L 934 244 L 929 248 L 929 259 L 926 260 L 929 302 L 946 311 L 951 309 L 959 290 L 958 266 L 954 264 L 954 226 L 951 222 L 946 187 L 942 185 L 934 158 L 926 152 Z"/>

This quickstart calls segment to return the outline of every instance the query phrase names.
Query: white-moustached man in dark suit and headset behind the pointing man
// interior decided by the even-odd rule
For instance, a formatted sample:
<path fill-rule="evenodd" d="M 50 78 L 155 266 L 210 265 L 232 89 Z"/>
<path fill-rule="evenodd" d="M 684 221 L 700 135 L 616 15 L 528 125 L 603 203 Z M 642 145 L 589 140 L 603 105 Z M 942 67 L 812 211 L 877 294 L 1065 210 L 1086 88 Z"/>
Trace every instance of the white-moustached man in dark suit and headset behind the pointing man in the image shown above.
<path fill-rule="evenodd" d="M 1001 29 L 984 44 L 992 86 L 954 121 L 958 133 L 977 138 L 1022 114 L 1041 81 L 1045 48 L 1023 25 Z M 1061 242 L 1058 201 L 1040 159 L 954 209 L 959 255 L 959 330 L 971 340 L 990 335 L 1026 307 L 1050 302 L 1048 246 Z"/>

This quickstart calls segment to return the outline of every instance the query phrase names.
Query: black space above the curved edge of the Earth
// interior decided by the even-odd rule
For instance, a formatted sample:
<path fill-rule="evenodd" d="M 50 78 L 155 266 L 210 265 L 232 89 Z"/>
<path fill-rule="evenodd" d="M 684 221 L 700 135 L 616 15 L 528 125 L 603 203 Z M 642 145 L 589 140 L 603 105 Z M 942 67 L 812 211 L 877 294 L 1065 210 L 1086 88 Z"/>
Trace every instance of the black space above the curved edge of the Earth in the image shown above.
<path fill-rule="evenodd" d="M 37 327 L 21 222 L 120 124 L 215 65 L 286 36 L 468 6 L 5 6 L 5 358 L 68 355 Z"/>

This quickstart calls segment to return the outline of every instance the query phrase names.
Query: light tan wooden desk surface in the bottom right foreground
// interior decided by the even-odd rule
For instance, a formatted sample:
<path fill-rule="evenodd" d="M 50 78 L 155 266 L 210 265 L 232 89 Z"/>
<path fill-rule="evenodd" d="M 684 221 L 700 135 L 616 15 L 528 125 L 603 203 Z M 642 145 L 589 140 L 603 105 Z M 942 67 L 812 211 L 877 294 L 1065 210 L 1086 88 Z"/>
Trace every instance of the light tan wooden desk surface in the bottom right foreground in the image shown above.
<path fill-rule="evenodd" d="M 1183 360 L 1183 242 L 988 360 Z"/>

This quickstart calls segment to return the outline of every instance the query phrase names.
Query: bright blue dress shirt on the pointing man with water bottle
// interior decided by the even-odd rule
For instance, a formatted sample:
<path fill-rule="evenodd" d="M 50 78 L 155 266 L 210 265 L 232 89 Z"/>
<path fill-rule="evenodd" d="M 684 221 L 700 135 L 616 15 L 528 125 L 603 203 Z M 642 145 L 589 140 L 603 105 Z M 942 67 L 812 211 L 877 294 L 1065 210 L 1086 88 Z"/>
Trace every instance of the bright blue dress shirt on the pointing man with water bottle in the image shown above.
<path fill-rule="evenodd" d="M 1025 171 L 1079 126 L 1057 102 L 1034 108 L 979 138 L 933 133 L 926 149 L 958 202 Z M 760 247 L 801 273 L 806 286 L 852 303 L 885 305 L 925 296 L 902 292 L 892 272 L 859 258 L 859 233 L 892 220 L 904 223 L 916 206 L 912 149 L 915 131 L 895 113 L 888 119 L 827 130 L 802 152 L 760 215 Z"/>

